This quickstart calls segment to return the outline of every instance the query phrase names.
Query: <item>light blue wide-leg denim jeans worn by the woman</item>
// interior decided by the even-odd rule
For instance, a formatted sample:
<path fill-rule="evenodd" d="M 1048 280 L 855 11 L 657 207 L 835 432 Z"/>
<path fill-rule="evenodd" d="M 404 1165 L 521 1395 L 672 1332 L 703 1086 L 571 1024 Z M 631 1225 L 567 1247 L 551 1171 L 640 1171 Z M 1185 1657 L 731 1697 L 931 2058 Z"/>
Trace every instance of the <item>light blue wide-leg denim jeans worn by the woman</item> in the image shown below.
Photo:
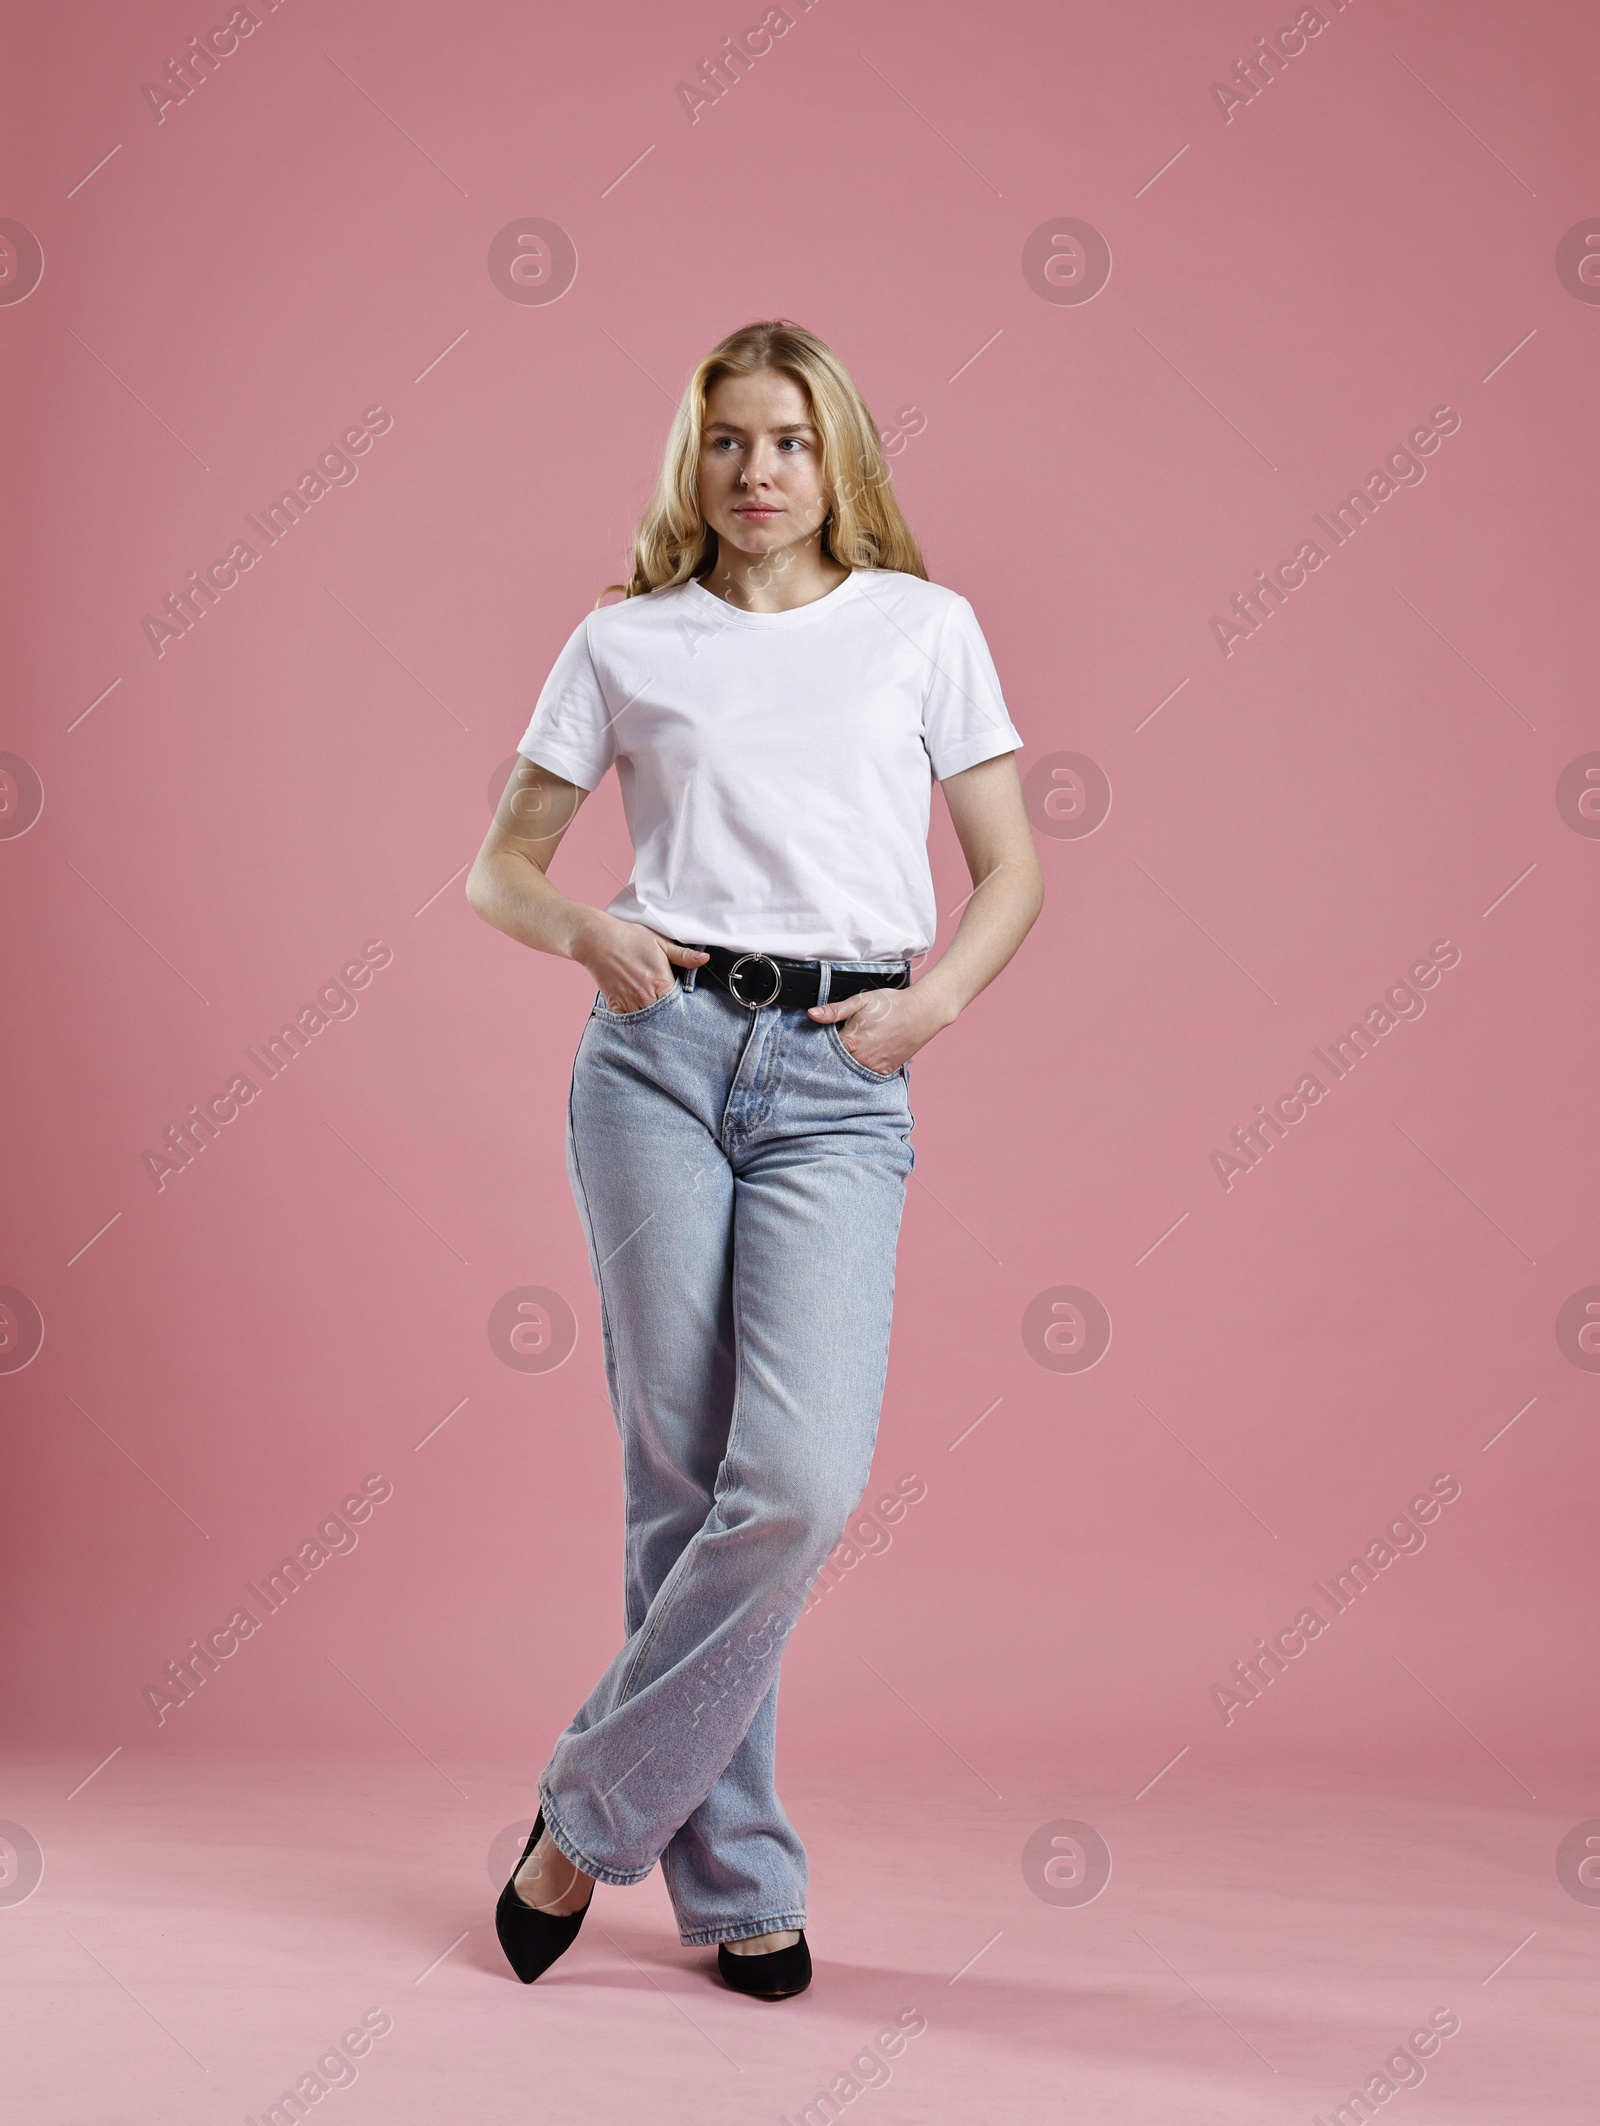
<path fill-rule="evenodd" d="M 567 1171 L 623 1435 L 629 1637 L 540 1801 L 597 1882 L 661 1860 L 684 1943 L 805 1926 L 778 1663 L 867 1484 L 907 1086 L 695 972 L 642 1012 L 597 997 L 578 1044 Z"/>

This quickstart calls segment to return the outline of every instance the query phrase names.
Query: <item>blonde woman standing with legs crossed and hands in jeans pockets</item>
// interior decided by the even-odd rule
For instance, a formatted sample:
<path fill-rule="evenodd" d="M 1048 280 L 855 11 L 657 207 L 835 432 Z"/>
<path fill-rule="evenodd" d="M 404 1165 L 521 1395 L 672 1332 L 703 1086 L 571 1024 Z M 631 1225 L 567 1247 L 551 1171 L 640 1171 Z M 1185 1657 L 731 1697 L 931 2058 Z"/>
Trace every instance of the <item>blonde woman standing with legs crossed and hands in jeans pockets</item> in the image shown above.
<path fill-rule="evenodd" d="M 627 1643 L 561 1735 L 495 1924 L 523 1981 L 597 1882 L 663 1867 L 722 1979 L 810 1984 L 778 1665 L 871 1463 L 909 1059 L 1011 959 L 1041 878 L 994 663 L 929 583 L 837 355 L 786 321 L 695 370 L 633 576 L 550 672 L 472 908 L 599 984 L 567 1171 L 623 1435 Z M 603 597 L 606 593 L 601 593 Z M 633 876 L 550 859 L 616 765 Z M 973 893 L 939 963 L 939 780 Z"/>

